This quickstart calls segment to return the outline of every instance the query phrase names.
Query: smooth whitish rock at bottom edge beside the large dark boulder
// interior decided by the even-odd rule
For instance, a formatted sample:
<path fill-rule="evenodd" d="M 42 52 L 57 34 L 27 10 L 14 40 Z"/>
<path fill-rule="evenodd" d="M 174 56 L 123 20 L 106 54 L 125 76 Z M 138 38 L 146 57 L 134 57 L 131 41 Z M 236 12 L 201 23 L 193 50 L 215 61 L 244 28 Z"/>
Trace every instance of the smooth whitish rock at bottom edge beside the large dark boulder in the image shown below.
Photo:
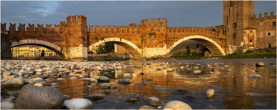
<path fill-rule="evenodd" d="M 71 99 L 66 100 L 62 105 L 64 109 L 90 109 L 93 108 L 93 104 L 88 99 Z"/>

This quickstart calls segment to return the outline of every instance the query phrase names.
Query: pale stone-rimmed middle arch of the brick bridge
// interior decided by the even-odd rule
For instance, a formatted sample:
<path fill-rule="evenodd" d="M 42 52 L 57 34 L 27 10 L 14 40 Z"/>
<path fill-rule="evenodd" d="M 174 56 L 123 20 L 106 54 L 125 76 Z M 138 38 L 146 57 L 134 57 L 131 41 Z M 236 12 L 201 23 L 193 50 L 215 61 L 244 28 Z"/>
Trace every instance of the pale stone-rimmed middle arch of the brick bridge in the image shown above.
<path fill-rule="evenodd" d="M 114 43 L 120 45 L 121 47 L 124 47 L 130 52 L 130 54 L 134 57 L 135 60 L 142 59 L 142 49 L 138 48 L 134 43 L 131 43 L 128 40 L 117 37 L 105 38 L 104 40 L 100 40 L 96 43 L 93 43 L 88 47 L 88 51 L 91 50 L 93 47 L 96 47 L 97 45 L 106 42 Z"/>

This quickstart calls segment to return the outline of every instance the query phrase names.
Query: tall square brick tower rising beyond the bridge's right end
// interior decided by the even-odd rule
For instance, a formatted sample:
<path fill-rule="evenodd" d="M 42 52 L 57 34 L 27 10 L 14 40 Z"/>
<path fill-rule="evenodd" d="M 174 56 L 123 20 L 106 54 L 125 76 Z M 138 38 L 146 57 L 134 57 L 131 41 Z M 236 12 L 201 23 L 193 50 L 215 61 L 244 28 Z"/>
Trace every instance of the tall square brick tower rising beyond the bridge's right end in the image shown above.
<path fill-rule="evenodd" d="M 239 46 L 243 42 L 243 30 L 248 27 L 248 15 L 254 15 L 254 1 L 223 1 L 226 48 Z"/>

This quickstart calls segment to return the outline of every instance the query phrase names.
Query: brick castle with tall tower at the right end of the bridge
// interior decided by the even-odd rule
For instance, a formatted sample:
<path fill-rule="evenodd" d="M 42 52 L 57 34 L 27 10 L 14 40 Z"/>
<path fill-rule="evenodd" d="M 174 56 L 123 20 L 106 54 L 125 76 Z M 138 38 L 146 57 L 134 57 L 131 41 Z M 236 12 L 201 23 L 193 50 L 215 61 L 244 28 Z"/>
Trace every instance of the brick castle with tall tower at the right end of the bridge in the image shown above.
<path fill-rule="evenodd" d="M 223 1 L 223 25 L 227 54 L 276 48 L 276 15 L 266 12 L 257 18 L 254 1 Z"/>

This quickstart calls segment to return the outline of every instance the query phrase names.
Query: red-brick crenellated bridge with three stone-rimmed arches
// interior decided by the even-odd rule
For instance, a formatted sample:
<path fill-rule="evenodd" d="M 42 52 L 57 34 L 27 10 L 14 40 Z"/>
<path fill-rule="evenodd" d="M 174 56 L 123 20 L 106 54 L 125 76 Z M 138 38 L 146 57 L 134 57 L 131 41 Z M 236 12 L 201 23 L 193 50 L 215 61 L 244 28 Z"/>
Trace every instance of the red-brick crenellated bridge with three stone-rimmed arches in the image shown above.
<path fill-rule="evenodd" d="M 67 22 L 60 25 L 10 24 L 8 35 L 11 47 L 20 45 L 38 45 L 46 47 L 63 60 L 86 61 L 87 52 L 93 47 L 111 42 L 126 48 L 135 60 L 155 55 L 167 54 L 184 40 L 196 40 L 205 45 L 214 56 L 226 55 L 226 37 L 223 31 L 214 32 L 200 27 L 167 27 L 167 19 L 156 18 L 142 20 L 141 25 L 129 26 L 90 26 L 87 30 L 86 17 L 68 16 Z M 6 31 L 6 24 L 1 23 L 1 30 Z"/>

